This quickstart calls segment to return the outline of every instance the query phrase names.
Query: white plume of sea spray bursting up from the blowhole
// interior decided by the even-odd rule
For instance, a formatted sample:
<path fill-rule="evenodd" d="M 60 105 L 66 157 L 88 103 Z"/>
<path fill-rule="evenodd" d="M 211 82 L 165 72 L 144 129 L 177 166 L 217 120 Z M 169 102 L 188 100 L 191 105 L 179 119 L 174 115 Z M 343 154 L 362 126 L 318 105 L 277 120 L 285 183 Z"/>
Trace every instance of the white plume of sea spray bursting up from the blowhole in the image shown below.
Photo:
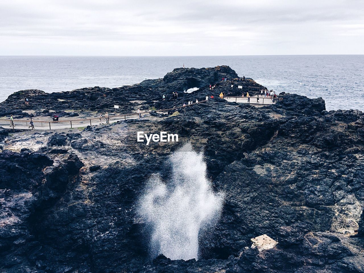
<path fill-rule="evenodd" d="M 173 176 L 166 185 L 159 175 L 149 179 L 139 213 L 151 225 L 151 248 L 171 260 L 198 258 L 198 234 L 215 225 L 223 195 L 206 178 L 203 154 L 184 145 L 170 157 Z"/>

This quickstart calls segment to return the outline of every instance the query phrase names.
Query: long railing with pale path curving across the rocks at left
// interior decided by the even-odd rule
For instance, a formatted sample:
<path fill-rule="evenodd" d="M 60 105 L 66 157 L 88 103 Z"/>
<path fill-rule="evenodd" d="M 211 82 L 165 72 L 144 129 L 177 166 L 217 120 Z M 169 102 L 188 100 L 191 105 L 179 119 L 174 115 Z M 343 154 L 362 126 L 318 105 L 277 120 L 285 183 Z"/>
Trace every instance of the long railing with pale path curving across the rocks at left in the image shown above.
<path fill-rule="evenodd" d="M 194 102 L 191 104 L 186 104 L 185 106 L 177 106 L 173 108 L 168 109 L 160 109 L 160 110 L 148 110 L 144 112 L 140 112 L 140 115 L 148 114 L 151 111 L 156 112 L 163 112 L 163 111 L 170 111 L 170 110 L 177 110 L 179 108 L 186 108 L 191 105 L 199 104 L 206 102 L 207 100 L 201 100 L 201 102 Z M 98 123 L 110 123 L 110 122 L 116 122 L 119 120 L 127 120 L 133 118 L 133 116 L 138 116 L 139 113 L 129 113 L 129 114 L 119 114 L 119 115 L 109 115 L 109 116 L 103 116 L 98 118 L 84 118 L 84 119 L 67 119 L 67 120 L 57 120 L 57 121 L 48 121 L 48 120 L 33 120 L 33 127 L 30 124 L 30 119 L 13 119 L 13 122 L 11 122 L 11 119 L 0 119 L 0 126 L 9 126 L 14 130 L 14 127 L 16 126 L 24 126 L 28 127 L 28 129 L 33 130 L 33 128 L 42 128 L 44 130 L 52 130 L 52 129 L 60 129 L 60 128 L 74 128 L 74 127 L 86 127 L 88 125 L 95 126 Z M 64 124 L 64 125 L 63 125 Z"/>

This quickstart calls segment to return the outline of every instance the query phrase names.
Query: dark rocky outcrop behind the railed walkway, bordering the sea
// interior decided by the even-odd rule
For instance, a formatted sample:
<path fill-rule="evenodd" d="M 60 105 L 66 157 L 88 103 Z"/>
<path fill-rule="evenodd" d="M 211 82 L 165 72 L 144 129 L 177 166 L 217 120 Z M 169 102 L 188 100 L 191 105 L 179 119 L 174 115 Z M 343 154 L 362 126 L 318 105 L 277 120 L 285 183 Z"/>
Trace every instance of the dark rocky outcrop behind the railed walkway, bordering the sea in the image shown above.
<path fill-rule="evenodd" d="M 229 79 L 223 82 L 222 78 Z M 206 95 L 217 96 L 220 92 L 241 95 L 249 86 L 264 88 L 252 79 L 245 82 L 237 82 L 238 75 L 228 66 L 217 66 L 214 68 L 176 68 L 163 79 L 145 80 L 134 86 L 123 86 L 119 88 L 90 87 L 76 89 L 70 92 L 46 93 L 40 90 L 22 90 L 10 95 L 0 104 L 0 116 L 13 114 L 17 118 L 27 117 L 27 110 L 35 110 L 35 116 L 76 116 L 76 112 L 64 112 L 64 110 L 79 111 L 114 111 L 114 105 L 119 105 L 119 112 L 130 113 L 135 108 L 147 110 L 152 107 L 157 109 L 173 108 L 183 105 L 187 100 L 203 100 Z M 230 81 L 235 81 L 234 90 L 231 89 Z M 216 84 L 214 91 L 209 90 L 209 84 Z M 238 90 L 237 85 L 244 88 Z M 184 93 L 191 87 L 200 88 L 192 94 Z M 172 92 L 178 92 L 178 99 L 172 100 Z M 162 96 L 166 100 L 162 100 Z M 24 99 L 29 99 L 29 104 Z M 45 110 L 44 110 L 45 109 Z M 49 110 L 52 110 L 50 112 Z M 55 112 L 53 112 L 55 111 Z"/>

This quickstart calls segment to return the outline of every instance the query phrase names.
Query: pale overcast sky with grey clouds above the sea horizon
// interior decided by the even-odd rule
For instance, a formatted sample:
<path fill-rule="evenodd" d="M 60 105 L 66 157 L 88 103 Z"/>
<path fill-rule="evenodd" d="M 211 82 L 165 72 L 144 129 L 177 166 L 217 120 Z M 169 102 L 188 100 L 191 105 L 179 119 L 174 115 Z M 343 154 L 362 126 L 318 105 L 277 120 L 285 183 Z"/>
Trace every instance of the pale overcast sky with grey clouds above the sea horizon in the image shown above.
<path fill-rule="evenodd" d="M 0 11 L 0 55 L 364 54 L 364 0 L 10 0 Z"/>

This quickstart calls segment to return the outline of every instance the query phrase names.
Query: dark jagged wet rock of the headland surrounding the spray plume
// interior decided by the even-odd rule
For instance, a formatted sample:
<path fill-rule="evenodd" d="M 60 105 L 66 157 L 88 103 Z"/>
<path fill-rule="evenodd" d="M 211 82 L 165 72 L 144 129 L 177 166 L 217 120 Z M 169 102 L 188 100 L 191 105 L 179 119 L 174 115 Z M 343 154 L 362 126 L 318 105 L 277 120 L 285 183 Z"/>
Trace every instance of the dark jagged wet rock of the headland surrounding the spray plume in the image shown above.
<path fill-rule="evenodd" d="M 183 95 L 200 99 L 210 80 L 234 75 L 229 69 L 177 69 L 125 87 L 130 96 L 120 100 L 127 109 L 132 99 L 160 99 L 161 88 L 197 83 L 205 87 Z M 85 92 L 81 101 L 90 108 L 102 104 L 102 94 L 120 91 L 86 89 L 76 94 Z M 323 99 L 282 94 L 264 107 L 214 98 L 176 116 L 64 133 L 9 132 L 0 146 L 1 272 L 364 272 L 363 124 L 362 112 L 328 112 Z M 171 132 L 179 142 L 146 146 L 138 131 Z M 197 261 L 151 257 L 137 201 L 152 174 L 171 175 L 167 159 L 186 142 L 204 151 L 213 188 L 225 193 L 221 219 L 199 234 Z M 251 248 L 262 234 L 278 244 Z"/>

